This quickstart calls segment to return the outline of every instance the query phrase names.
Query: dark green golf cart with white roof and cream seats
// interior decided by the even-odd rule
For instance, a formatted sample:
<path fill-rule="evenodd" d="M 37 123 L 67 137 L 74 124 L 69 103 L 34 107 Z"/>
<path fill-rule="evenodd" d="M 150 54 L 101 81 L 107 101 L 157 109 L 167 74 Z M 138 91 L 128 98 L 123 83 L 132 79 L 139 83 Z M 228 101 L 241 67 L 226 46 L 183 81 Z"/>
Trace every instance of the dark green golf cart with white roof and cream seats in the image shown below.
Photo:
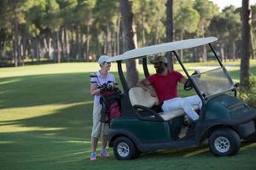
<path fill-rule="evenodd" d="M 122 116 L 110 122 L 109 147 L 119 160 L 129 160 L 148 150 L 169 150 L 196 147 L 204 141 L 215 156 L 232 156 L 240 149 L 241 139 L 255 133 L 256 110 L 236 98 L 236 84 L 212 48 L 216 37 L 166 42 L 145 48 L 132 49 L 114 56 L 124 93 L 121 94 Z M 219 66 L 211 71 L 189 75 L 176 50 L 208 45 Z M 202 100 L 199 121 L 188 136 L 180 139 L 178 133 L 184 126 L 185 113 L 182 109 L 163 113 L 157 98 L 142 88 L 128 88 L 122 70 L 125 59 L 143 59 L 144 76 L 148 77 L 149 55 L 172 51 L 189 83 L 184 89 L 195 89 Z M 193 106 L 195 110 L 198 107 Z"/>

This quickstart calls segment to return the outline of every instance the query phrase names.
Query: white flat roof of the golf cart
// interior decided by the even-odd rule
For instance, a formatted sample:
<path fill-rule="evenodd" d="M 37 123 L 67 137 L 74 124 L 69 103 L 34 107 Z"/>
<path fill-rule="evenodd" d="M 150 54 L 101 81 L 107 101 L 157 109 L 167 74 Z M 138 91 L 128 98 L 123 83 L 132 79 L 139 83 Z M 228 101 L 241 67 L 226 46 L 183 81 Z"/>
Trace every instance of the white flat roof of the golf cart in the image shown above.
<path fill-rule="evenodd" d="M 124 54 L 111 57 L 111 61 L 118 61 L 124 59 L 134 59 L 144 57 L 150 54 L 165 53 L 167 51 L 174 51 L 178 49 L 194 48 L 197 46 L 205 45 L 218 40 L 217 37 L 203 37 L 195 39 L 181 40 L 177 42 L 166 42 L 157 45 L 152 45 L 144 48 L 131 49 Z"/>

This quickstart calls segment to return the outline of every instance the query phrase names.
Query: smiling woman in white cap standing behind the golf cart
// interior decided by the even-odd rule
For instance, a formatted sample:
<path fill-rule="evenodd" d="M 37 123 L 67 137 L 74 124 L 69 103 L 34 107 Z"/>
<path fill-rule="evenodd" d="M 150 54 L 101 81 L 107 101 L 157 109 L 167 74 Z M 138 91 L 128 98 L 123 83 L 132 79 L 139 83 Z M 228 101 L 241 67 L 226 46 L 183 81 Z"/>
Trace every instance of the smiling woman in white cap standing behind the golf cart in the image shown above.
<path fill-rule="evenodd" d="M 102 133 L 102 150 L 101 156 L 109 156 L 106 151 L 106 146 L 108 144 L 108 123 L 101 122 L 101 110 L 102 105 L 100 104 L 101 90 L 98 88 L 103 83 L 111 81 L 115 82 L 113 74 L 109 73 L 111 67 L 110 58 L 107 55 L 102 55 L 98 59 L 101 70 L 96 72 L 97 77 L 92 77 L 90 79 L 90 94 L 94 95 L 93 103 L 93 126 L 91 132 L 91 154 L 90 161 L 96 161 L 96 146 L 98 143 L 99 136 Z"/>

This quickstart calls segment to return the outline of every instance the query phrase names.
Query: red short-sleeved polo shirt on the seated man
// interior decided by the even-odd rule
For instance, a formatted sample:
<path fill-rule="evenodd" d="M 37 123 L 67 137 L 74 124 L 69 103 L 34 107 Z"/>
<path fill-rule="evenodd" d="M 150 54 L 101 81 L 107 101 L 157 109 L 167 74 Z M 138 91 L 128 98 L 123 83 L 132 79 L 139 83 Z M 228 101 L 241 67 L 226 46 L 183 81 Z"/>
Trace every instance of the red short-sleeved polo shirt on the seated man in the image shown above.
<path fill-rule="evenodd" d="M 181 73 L 168 71 L 166 76 L 154 74 L 147 80 L 154 87 L 160 104 L 162 104 L 166 99 L 177 98 L 177 82 L 180 82 L 182 78 Z"/>

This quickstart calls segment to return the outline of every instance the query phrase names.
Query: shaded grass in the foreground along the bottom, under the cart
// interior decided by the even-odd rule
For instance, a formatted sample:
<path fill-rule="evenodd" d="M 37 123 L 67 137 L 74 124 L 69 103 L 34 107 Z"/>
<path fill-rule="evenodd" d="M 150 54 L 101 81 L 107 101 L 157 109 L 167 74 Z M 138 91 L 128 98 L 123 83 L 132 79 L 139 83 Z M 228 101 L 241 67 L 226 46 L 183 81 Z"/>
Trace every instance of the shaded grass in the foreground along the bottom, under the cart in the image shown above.
<path fill-rule="evenodd" d="M 89 161 L 89 141 L 70 138 L 43 137 L 37 134 L 13 133 L 2 139 L 12 139 L 10 144 L 0 144 L 5 152 L 0 156 L 3 169 L 253 169 L 256 144 L 245 145 L 237 156 L 215 157 L 206 145 L 182 150 L 160 150 L 144 153 L 135 160 L 117 161 L 98 157 Z M 194 154 L 197 153 L 197 154 Z M 198 168 L 196 168 L 198 167 Z"/>

